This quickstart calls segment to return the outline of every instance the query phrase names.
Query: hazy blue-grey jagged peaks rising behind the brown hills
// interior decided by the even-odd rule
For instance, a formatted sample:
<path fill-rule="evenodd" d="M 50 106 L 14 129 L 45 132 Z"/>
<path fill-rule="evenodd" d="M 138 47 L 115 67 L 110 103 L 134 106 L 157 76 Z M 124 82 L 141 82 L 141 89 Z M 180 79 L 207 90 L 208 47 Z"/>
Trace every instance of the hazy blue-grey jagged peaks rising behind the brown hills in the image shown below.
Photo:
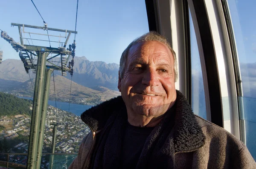
<path fill-rule="evenodd" d="M 52 60 L 56 61 L 57 58 Z M 93 62 L 84 56 L 75 57 L 74 63 L 72 81 L 86 87 L 103 86 L 118 91 L 118 64 Z M 61 75 L 61 72 L 54 71 L 54 74 Z M 35 74 L 30 73 L 30 77 L 35 78 Z M 70 73 L 67 72 L 66 78 L 71 80 Z M 26 74 L 21 60 L 7 59 L 0 65 L 0 79 L 25 82 L 29 80 L 29 74 Z"/>

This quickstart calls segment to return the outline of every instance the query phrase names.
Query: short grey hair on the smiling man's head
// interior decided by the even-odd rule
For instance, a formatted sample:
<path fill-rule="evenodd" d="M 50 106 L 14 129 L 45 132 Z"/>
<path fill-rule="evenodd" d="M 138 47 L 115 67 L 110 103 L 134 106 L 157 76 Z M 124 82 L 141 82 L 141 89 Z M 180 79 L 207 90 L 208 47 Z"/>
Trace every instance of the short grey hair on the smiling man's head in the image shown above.
<path fill-rule="evenodd" d="M 120 58 L 120 67 L 119 67 L 120 78 L 122 79 L 124 76 L 126 58 L 128 56 L 128 52 L 129 52 L 131 46 L 135 45 L 136 43 L 148 42 L 148 41 L 161 42 L 161 43 L 165 44 L 170 49 L 170 51 L 172 52 L 173 59 L 174 59 L 174 74 L 175 74 L 174 81 L 176 82 L 177 78 L 178 78 L 176 54 L 175 54 L 174 50 L 172 49 L 170 43 L 167 41 L 167 39 L 165 37 L 161 36 L 160 34 L 158 34 L 157 32 L 148 32 L 146 34 L 143 34 L 141 37 L 138 37 L 137 39 L 132 41 L 127 46 L 127 48 L 124 50 L 124 52 L 122 52 L 122 55 Z"/>

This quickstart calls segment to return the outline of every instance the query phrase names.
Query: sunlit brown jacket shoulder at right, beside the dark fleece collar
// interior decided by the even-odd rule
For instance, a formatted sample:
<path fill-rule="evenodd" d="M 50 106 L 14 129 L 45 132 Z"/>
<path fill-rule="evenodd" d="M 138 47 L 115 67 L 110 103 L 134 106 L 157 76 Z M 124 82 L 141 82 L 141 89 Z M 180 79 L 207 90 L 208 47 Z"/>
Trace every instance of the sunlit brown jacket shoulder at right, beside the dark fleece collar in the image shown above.
<path fill-rule="evenodd" d="M 225 165 L 219 168 L 255 169 L 256 163 L 243 142 L 220 126 L 197 115 L 195 119 L 206 138 L 204 146 L 198 150 L 198 153 L 215 159 L 213 166 L 217 160 L 222 159 Z M 230 164 L 227 159 L 230 159 Z"/>

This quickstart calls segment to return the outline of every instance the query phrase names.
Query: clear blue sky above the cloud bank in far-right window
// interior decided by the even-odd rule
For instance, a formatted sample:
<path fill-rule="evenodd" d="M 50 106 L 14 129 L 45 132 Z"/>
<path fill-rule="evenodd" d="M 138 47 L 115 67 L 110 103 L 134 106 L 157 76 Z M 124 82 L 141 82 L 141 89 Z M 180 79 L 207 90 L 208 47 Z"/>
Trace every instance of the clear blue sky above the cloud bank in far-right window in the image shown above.
<path fill-rule="evenodd" d="M 256 62 L 256 1 L 227 0 L 241 63 Z"/>

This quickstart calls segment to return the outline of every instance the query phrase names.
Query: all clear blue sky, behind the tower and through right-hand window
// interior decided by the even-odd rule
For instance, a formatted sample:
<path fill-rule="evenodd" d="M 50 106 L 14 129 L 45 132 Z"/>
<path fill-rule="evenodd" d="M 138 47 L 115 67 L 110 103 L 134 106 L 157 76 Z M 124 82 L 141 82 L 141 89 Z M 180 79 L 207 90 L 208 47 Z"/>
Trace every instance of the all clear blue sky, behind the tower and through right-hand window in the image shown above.
<path fill-rule="evenodd" d="M 34 0 L 44 20 L 50 28 L 75 30 L 76 0 Z M 90 61 L 119 63 L 125 47 L 134 38 L 148 32 L 145 0 L 80 0 L 76 36 L 76 56 L 85 56 Z M 228 0 L 236 43 L 241 63 L 256 62 L 256 1 Z M 11 23 L 43 26 L 43 20 L 31 0 L 5 0 L 0 6 L 0 29 L 19 41 L 17 27 Z M 250 19 L 251 18 L 251 19 Z M 34 30 L 29 30 L 31 32 Z M 46 33 L 42 32 L 41 33 Z M 52 34 L 49 32 L 49 34 Z M 28 35 L 27 35 L 28 36 Z M 26 37 L 27 37 L 26 36 Z M 32 38 L 36 38 L 32 35 Z M 46 38 L 47 37 L 40 37 Z M 50 37 L 51 40 L 58 40 Z M 69 44 L 73 42 L 70 37 Z M 64 40 L 62 38 L 62 40 Z M 33 41 L 36 43 L 35 41 Z M 31 42 L 30 42 L 31 43 Z M 49 43 L 38 43 L 49 46 Z M 55 45 L 55 46 L 54 46 Z M 57 47 L 57 43 L 52 43 Z M 19 59 L 18 53 L 3 38 L 0 38 L 3 60 Z"/>

